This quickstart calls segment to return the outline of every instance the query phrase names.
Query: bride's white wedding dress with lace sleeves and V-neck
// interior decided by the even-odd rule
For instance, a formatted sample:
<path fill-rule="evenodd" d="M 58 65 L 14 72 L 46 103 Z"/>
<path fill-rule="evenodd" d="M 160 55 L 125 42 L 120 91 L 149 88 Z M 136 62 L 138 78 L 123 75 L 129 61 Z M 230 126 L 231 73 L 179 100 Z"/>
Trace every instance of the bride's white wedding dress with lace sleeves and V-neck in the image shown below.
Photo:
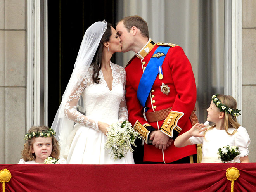
<path fill-rule="evenodd" d="M 128 119 L 125 103 L 125 69 L 111 63 L 112 90 L 109 90 L 102 71 L 99 71 L 99 84 L 92 80 L 93 67 L 78 88 L 69 96 L 65 106 L 65 116 L 76 122 L 69 135 L 71 142 L 68 164 L 134 164 L 131 152 L 125 158 L 114 160 L 104 149 L 106 136 L 99 130 L 98 121 L 116 123 Z M 77 111 L 80 96 L 83 99 L 83 115 Z"/>

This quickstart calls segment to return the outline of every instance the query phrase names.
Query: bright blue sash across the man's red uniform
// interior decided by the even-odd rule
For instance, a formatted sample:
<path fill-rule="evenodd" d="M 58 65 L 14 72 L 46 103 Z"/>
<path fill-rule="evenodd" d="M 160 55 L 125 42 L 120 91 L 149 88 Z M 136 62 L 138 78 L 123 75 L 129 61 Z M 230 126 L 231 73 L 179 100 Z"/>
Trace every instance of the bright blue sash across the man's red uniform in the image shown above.
<path fill-rule="evenodd" d="M 140 78 L 140 83 L 137 90 L 137 98 L 140 101 L 140 104 L 145 107 L 147 97 L 149 96 L 150 90 L 156 80 L 158 74 L 158 67 L 162 66 L 164 58 L 169 50 L 169 46 L 159 46 L 154 52 L 153 56 L 149 60 L 147 67 Z M 161 53 L 160 57 L 156 57 L 157 53 Z M 162 54 L 163 53 L 163 54 Z"/>

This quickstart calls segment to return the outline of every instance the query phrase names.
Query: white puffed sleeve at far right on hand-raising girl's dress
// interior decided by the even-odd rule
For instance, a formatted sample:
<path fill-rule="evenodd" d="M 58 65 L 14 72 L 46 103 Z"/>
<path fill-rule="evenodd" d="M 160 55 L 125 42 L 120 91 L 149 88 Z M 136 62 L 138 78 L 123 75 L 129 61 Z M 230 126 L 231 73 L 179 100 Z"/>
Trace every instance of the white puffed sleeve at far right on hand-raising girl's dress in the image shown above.
<path fill-rule="evenodd" d="M 246 131 L 246 128 L 240 126 L 237 129 L 236 138 L 235 138 L 235 146 L 239 147 L 239 151 L 241 154 L 238 157 L 244 157 L 249 154 L 248 146 L 251 140 Z"/>

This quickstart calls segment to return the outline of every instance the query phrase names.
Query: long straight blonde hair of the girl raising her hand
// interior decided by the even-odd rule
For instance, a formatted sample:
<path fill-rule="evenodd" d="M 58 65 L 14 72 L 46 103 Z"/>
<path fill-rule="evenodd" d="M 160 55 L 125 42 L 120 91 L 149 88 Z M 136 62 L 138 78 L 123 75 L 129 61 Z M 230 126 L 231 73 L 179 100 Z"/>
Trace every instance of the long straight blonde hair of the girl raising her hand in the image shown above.
<path fill-rule="evenodd" d="M 218 95 L 217 98 L 220 100 L 222 104 L 227 105 L 231 109 L 236 109 L 237 108 L 237 101 L 234 99 L 234 97 L 230 95 Z M 218 109 L 220 111 L 220 109 Z M 211 126 L 208 128 L 208 130 L 214 128 L 216 125 Z M 224 112 L 224 129 L 228 135 L 234 135 L 237 131 L 237 129 L 241 125 L 237 122 L 237 118 L 232 116 L 230 113 Z M 233 127 L 235 130 L 233 133 L 228 132 L 228 128 Z M 206 131 L 208 131 L 206 130 Z M 206 133 L 205 131 L 205 133 Z"/>

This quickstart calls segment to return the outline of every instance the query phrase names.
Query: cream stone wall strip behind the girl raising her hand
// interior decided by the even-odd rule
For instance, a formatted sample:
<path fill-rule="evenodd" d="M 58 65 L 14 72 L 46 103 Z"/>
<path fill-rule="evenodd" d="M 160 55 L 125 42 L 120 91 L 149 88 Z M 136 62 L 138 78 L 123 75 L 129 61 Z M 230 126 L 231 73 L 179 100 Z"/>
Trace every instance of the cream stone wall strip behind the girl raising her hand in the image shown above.
<path fill-rule="evenodd" d="M 251 138 L 249 159 L 256 162 L 256 1 L 242 1 L 242 126 Z"/>

